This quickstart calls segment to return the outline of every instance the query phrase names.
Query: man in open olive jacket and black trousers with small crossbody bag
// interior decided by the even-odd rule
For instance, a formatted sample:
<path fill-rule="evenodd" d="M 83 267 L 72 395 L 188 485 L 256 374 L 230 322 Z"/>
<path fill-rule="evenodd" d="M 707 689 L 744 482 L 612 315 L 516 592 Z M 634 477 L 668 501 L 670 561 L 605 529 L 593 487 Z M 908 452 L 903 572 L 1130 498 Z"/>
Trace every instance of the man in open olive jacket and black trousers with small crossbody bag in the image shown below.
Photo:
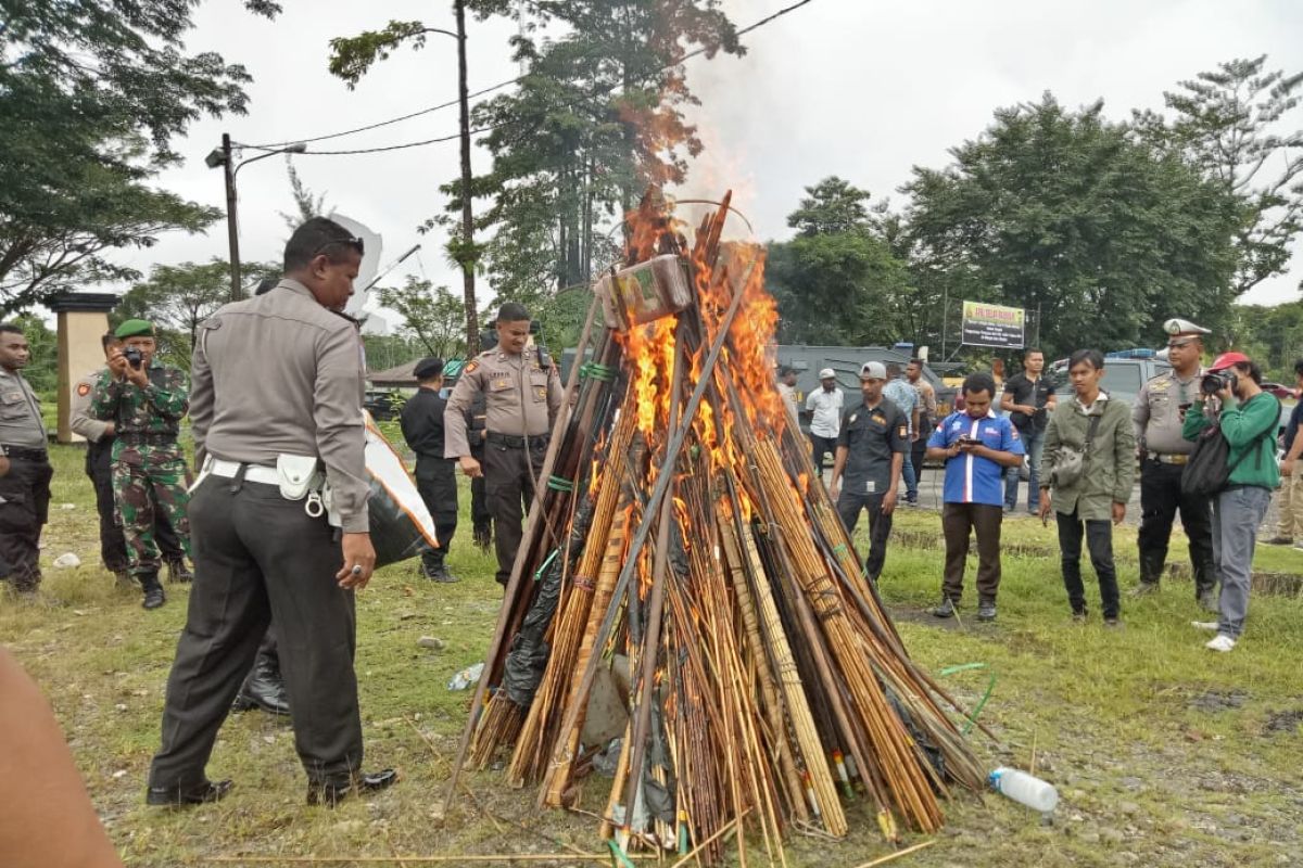
<path fill-rule="evenodd" d="M 1135 478 L 1136 441 L 1131 407 L 1110 401 L 1109 394 L 1100 389 L 1104 355 L 1098 350 L 1074 353 L 1067 375 L 1074 398 L 1059 402 L 1045 428 L 1040 515 L 1045 521 L 1053 508 L 1058 522 L 1063 586 L 1072 606 L 1072 619 L 1079 623 L 1085 621 L 1085 587 L 1081 584 L 1084 530 L 1091 566 L 1100 579 L 1104 625 L 1115 627 L 1121 604 L 1118 574 L 1113 566 L 1113 524 L 1121 524 L 1127 515 Z M 1081 474 L 1074 480 L 1062 480 L 1062 468 L 1074 450 L 1084 454 Z"/>

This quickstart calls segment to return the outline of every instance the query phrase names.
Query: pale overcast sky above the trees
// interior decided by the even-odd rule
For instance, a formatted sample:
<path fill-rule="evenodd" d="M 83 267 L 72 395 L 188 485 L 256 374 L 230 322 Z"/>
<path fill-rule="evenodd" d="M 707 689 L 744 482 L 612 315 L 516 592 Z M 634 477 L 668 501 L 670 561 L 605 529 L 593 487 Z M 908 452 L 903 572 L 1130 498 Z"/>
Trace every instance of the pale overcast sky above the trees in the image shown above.
<path fill-rule="evenodd" d="M 745 26 L 792 0 L 724 0 Z M 184 165 L 158 183 L 224 208 L 222 172 L 203 157 L 227 131 L 237 142 L 301 141 L 456 99 L 456 46 L 431 35 L 421 51 L 399 49 L 349 90 L 330 75 L 328 40 L 421 20 L 452 29 L 451 3 L 384 0 L 284 0 L 275 21 L 249 14 L 240 0 L 208 0 L 195 16 L 189 51 L 216 51 L 245 65 L 254 81 L 246 116 L 195 122 L 177 141 Z M 446 7 L 446 8 L 444 8 Z M 511 61 L 509 21 L 469 22 L 470 90 L 519 74 Z M 790 236 L 786 215 L 803 189 L 840 176 L 874 198 L 903 204 L 898 187 L 915 165 L 941 168 L 949 148 L 975 138 L 998 107 L 1035 102 L 1052 91 L 1079 107 L 1102 99 L 1106 116 L 1132 108 L 1162 108 L 1164 90 L 1235 57 L 1269 55 L 1268 68 L 1303 69 L 1303 4 L 1291 0 L 1093 0 L 1036 3 L 1002 0 L 813 0 L 744 36 L 745 57 L 718 55 L 687 61 L 688 83 L 702 105 L 693 112 L 705 152 L 689 169 L 681 198 L 718 198 L 734 204 L 761 239 Z M 1294 112 L 1303 126 L 1303 108 Z M 438 186 L 459 174 L 457 143 L 369 155 L 334 156 L 417 142 L 457 131 L 456 108 L 377 130 L 310 142 L 296 156 L 304 182 L 326 206 L 382 234 L 386 267 L 414 243 L 422 250 L 387 282 L 412 273 L 460 292 L 460 273 L 443 254 L 446 236 L 417 226 L 442 211 Z M 246 151 L 242 157 L 257 155 Z M 238 174 L 241 259 L 276 260 L 289 234 L 279 212 L 292 211 L 284 157 L 248 165 Z M 476 148 L 477 172 L 489 154 Z M 734 229 L 747 234 L 747 226 Z M 225 225 L 207 234 L 171 234 L 120 260 L 143 272 L 154 264 L 227 256 Z M 1303 252 L 1287 275 L 1264 281 L 1242 301 L 1274 305 L 1299 298 Z M 480 281 L 481 303 L 491 289 Z M 374 305 L 373 305 L 374 307 Z M 1179 311 L 1174 311 L 1179 315 Z"/>

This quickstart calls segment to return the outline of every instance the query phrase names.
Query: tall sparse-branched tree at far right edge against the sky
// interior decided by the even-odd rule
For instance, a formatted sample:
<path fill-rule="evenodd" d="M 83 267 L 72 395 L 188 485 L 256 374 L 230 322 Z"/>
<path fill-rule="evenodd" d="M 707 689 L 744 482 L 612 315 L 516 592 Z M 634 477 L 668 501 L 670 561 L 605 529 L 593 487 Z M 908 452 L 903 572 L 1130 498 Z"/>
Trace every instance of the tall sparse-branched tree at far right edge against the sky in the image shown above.
<path fill-rule="evenodd" d="M 1164 94 L 1170 122 L 1153 112 L 1134 121 L 1144 141 L 1182 155 L 1238 202 L 1237 295 L 1285 273 L 1303 230 L 1303 129 L 1286 121 L 1300 118 L 1303 73 L 1265 65 L 1267 55 L 1218 64 Z"/>

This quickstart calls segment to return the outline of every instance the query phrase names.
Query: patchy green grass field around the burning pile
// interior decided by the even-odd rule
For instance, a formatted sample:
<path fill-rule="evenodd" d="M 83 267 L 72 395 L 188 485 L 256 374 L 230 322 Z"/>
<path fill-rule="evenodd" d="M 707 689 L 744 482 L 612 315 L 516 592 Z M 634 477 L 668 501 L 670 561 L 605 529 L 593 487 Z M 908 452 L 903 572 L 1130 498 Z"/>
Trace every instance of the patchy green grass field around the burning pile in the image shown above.
<path fill-rule="evenodd" d="M 470 696 L 448 691 L 447 682 L 480 660 L 500 599 L 493 563 L 470 545 L 465 518 L 450 557 L 461 583 L 431 584 L 407 563 L 382 570 L 358 597 L 366 765 L 397 766 L 399 786 L 335 811 L 309 808 L 289 727 L 246 713 L 229 718 L 210 765 L 212 777 L 236 781 L 227 800 L 175 813 L 146 808 L 145 777 L 186 591 L 169 587 L 168 605 L 146 613 L 137 593 L 113 588 L 98 565 L 81 457 L 76 448 L 53 452 L 46 583 L 35 601 L 0 599 L 0 640 L 46 690 L 129 865 L 237 856 L 246 859 L 235 864 L 253 865 L 268 864 L 254 856 L 309 855 L 337 859 L 321 864 L 421 864 L 396 855 L 469 864 L 463 856 L 601 852 L 592 817 L 539 812 L 534 793 L 503 786 L 500 773 L 464 776 L 466 790 L 443 804 Z M 1036 773 L 1058 786 L 1061 802 L 1042 821 L 999 795 L 962 794 L 949 803 L 936 843 L 893 864 L 1303 865 L 1303 600 L 1256 595 L 1244 639 L 1230 655 L 1205 651 L 1208 635 L 1190 627 L 1205 616 L 1188 580 L 1166 583 L 1157 599 L 1124 599 L 1122 631 L 1101 626 L 1093 592 L 1095 619 L 1074 626 L 1053 530 L 1018 518 L 1005 526 L 1014 553 L 1005 557 L 998 622 L 936 622 L 923 610 L 939 588 L 939 518 L 906 511 L 896 531 L 882 595 L 907 647 L 933 671 L 985 664 L 946 678 L 968 703 L 995 678 L 980 720 L 1001 740 L 975 735 L 976 752 L 989 766 L 1028 768 L 1035 756 Z M 1121 528 L 1115 547 L 1127 588 L 1136 580 L 1134 530 Z M 1183 556 L 1178 540 L 1173 550 Z M 50 566 L 64 552 L 83 565 Z M 1256 566 L 1303 574 L 1303 552 L 1263 548 Z M 966 603 L 963 614 L 971 616 L 975 595 Z M 418 647 L 421 636 L 446 647 Z M 609 781 L 593 777 L 584 786 L 581 807 L 601 811 Z M 866 806 L 850 816 L 846 841 L 792 835 L 787 864 L 860 865 L 891 851 Z M 764 864 L 758 841 L 745 843 L 748 864 Z"/>

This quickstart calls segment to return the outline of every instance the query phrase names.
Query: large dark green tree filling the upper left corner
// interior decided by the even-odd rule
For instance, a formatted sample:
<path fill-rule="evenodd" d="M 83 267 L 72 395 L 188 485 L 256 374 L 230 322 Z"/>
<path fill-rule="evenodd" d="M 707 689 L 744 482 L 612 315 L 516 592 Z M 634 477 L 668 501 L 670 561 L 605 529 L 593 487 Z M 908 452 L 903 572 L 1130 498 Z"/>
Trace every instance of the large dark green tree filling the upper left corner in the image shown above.
<path fill-rule="evenodd" d="M 219 216 L 146 183 L 193 120 L 245 111 L 242 66 L 184 53 L 195 5 L 0 0 L 0 311 L 134 278 L 106 254 Z"/>

